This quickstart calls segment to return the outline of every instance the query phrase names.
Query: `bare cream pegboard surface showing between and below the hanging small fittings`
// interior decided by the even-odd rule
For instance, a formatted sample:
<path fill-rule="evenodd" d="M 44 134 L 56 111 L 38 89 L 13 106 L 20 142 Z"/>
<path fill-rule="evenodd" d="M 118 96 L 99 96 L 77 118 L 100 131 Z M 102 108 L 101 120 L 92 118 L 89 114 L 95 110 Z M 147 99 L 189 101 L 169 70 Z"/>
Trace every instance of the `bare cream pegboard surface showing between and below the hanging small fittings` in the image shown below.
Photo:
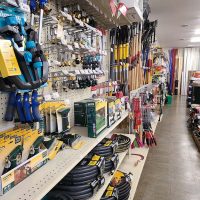
<path fill-rule="evenodd" d="M 82 2 L 82 1 L 80 1 L 80 2 Z M 85 1 L 83 1 L 83 2 L 85 2 Z M 74 3 L 75 2 L 73 2 L 73 4 Z M 59 11 L 62 9 L 62 7 L 65 5 L 69 5 L 67 1 L 56 1 L 56 0 L 50 1 L 50 8 L 52 9 L 51 16 L 56 17 L 58 15 Z M 45 24 L 46 20 L 47 19 L 44 19 L 44 24 Z M 61 56 L 61 53 L 59 52 L 59 45 L 47 44 L 47 42 L 48 42 L 47 35 L 50 34 L 49 28 L 50 28 L 50 25 L 48 23 L 46 23 L 46 25 L 43 28 L 42 43 L 43 43 L 44 49 L 46 49 L 46 51 L 47 51 L 48 59 L 49 60 L 51 60 L 51 59 L 59 60 L 59 57 Z M 92 28 L 92 27 L 90 27 L 90 28 Z M 93 28 L 93 30 L 94 30 L 94 28 Z M 69 36 L 69 40 L 71 40 L 71 37 L 72 36 Z M 109 38 L 106 36 L 102 36 L 102 37 L 103 37 L 102 39 L 104 41 L 103 47 L 105 50 L 107 50 Z M 66 49 L 65 54 L 67 54 L 67 57 L 70 57 L 72 53 L 75 53 L 75 52 Z M 109 67 L 108 66 L 108 63 L 109 63 L 108 57 L 109 56 L 102 55 L 101 67 L 102 67 L 102 70 L 104 71 L 104 76 L 101 76 L 101 78 L 98 79 L 98 83 L 105 82 L 106 80 L 108 80 L 108 67 Z M 76 65 L 76 67 L 73 67 L 73 66 L 67 66 L 67 67 L 51 66 L 50 73 L 60 71 L 61 69 L 67 70 L 69 72 L 75 71 L 75 70 L 81 70 L 82 64 Z M 70 99 L 70 103 L 72 106 L 71 106 L 69 118 L 70 118 L 71 124 L 74 124 L 74 114 L 73 114 L 74 113 L 74 110 L 73 110 L 74 102 L 91 97 L 91 89 L 86 88 L 86 89 L 78 89 L 78 90 L 68 90 L 67 92 L 65 92 L 62 89 L 62 78 L 61 77 L 58 77 L 58 78 L 59 78 L 59 81 L 58 81 L 58 90 L 57 91 L 52 90 L 52 87 L 50 86 L 50 87 L 42 89 L 41 94 L 44 96 L 49 93 L 58 92 L 59 96 L 60 96 L 59 99 L 61 99 L 61 100 L 62 99 Z M 51 81 L 51 79 L 50 79 L 50 81 Z"/>

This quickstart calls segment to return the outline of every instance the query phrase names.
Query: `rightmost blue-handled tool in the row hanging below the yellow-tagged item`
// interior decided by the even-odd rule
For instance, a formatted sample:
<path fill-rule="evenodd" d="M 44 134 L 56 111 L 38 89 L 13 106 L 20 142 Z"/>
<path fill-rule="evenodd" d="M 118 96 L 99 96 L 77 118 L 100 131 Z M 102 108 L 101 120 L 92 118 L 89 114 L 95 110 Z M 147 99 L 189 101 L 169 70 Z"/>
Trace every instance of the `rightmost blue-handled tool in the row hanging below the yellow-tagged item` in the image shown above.
<path fill-rule="evenodd" d="M 31 101 L 32 101 L 33 121 L 39 122 L 39 121 L 42 120 L 42 116 L 40 115 L 40 111 L 39 111 L 40 103 L 38 102 L 38 92 L 37 92 L 37 90 L 33 91 Z"/>

